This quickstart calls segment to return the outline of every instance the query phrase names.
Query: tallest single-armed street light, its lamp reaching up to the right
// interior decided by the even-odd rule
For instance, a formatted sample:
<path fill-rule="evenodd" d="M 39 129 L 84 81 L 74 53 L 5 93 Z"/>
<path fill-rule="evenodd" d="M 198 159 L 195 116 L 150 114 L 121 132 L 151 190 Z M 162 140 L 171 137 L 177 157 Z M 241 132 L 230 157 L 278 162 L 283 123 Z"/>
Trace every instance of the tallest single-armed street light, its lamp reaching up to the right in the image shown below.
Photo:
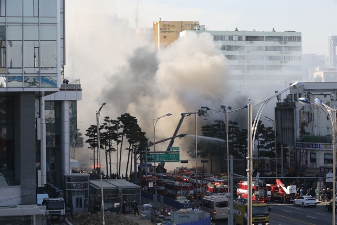
<path fill-rule="evenodd" d="M 256 130 L 258 126 L 258 122 L 261 117 L 262 110 L 265 108 L 265 106 L 276 96 L 286 92 L 289 89 L 296 89 L 299 87 L 302 87 L 304 85 L 303 82 L 301 81 L 296 81 L 289 85 L 287 88 L 281 90 L 280 92 L 277 92 L 273 94 L 272 96 L 256 103 L 255 105 L 251 104 L 251 98 L 248 98 L 249 103 L 248 103 L 248 133 L 247 133 L 247 196 L 248 196 L 248 209 L 247 209 L 247 224 L 252 224 L 252 176 L 253 176 L 253 157 L 254 157 L 254 152 L 253 152 L 253 145 L 254 145 L 254 140 L 255 140 L 255 135 L 256 135 Z M 253 108 L 260 106 L 258 113 L 256 114 L 256 117 L 253 122 Z M 252 124 L 253 122 L 253 124 Z"/>

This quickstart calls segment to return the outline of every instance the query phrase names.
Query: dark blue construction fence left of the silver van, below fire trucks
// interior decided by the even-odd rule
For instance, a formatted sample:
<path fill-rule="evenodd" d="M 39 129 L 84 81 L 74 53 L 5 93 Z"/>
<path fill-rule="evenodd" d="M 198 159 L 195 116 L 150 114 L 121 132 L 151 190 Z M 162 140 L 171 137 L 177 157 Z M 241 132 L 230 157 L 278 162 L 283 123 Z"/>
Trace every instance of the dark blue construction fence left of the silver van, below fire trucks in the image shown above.
<path fill-rule="evenodd" d="M 163 195 L 155 195 L 155 194 L 151 194 L 145 191 L 140 191 L 140 197 L 141 197 L 141 204 L 151 204 L 157 209 L 161 207 L 165 207 L 165 206 L 169 206 L 169 207 L 171 206 L 175 210 L 184 208 L 183 203 L 179 203 Z"/>

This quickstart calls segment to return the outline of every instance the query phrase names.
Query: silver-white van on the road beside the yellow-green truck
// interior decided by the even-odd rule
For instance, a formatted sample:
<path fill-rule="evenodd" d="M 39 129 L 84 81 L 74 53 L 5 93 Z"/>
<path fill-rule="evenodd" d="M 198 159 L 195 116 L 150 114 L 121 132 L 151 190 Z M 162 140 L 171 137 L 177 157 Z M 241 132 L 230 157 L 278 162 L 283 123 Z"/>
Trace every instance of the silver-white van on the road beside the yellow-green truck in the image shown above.
<path fill-rule="evenodd" d="M 211 214 L 212 221 L 228 218 L 228 198 L 223 195 L 205 196 L 200 208 Z"/>

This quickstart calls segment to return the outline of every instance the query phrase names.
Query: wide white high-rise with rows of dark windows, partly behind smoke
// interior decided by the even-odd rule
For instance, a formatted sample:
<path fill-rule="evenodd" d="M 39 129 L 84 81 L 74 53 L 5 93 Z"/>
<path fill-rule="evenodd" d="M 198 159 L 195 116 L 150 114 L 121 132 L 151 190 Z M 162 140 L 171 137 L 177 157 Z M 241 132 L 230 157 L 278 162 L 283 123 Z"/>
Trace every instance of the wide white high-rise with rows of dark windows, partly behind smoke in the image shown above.
<path fill-rule="evenodd" d="M 179 37 L 188 36 L 189 32 L 180 32 Z M 202 28 L 193 32 L 210 33 L 220 46 L 227 58 L 228 84 L 233 90 L 279 88 L 303 80 L 301 32 L 206 31 Z"/>

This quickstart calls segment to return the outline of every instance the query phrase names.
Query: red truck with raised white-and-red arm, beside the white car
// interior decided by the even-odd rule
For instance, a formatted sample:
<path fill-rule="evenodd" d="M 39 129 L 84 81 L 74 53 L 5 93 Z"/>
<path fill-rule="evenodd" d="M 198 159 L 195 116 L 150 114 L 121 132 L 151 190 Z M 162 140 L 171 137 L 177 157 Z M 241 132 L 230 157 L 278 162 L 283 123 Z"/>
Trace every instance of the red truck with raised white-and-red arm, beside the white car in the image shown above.
<path fill-rule="evenodd" d="M 296 185 L 289 185 L 285 187 L 285 185 L 281 182 L 280 179 L 276 179 L 277 185 L 272 185 L 272 196 L 271 201 L 283 201 L 283 197 L 287 194 L 287 201 L 292 202 L 295 199 L 296 194 Z"/>

